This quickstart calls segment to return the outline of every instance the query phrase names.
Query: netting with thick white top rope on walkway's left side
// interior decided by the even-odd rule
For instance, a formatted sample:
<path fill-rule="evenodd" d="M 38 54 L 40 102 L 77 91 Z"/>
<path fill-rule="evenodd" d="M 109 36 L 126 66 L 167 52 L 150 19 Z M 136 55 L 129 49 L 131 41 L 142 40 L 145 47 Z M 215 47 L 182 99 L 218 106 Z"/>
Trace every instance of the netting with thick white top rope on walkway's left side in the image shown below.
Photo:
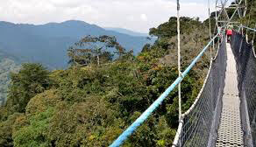
<path fill-rule="evenodd" d="M 222 109 L 226 70 L 225 41 L 212 60 L 203 88 L 194 105 L 182 115 L 174 146 L 214 146 Z"/>

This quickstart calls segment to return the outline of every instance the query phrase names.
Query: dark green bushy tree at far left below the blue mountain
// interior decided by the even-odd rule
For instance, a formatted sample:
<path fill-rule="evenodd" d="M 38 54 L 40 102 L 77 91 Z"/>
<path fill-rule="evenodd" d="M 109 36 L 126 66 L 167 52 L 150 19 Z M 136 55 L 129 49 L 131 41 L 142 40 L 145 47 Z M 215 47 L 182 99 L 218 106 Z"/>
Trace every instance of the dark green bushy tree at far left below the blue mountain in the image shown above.
<path fill-rule="evenodd" d="M 30 99 L 49 88 L 49 72 L 40 64 L 23 64 L 18 73 L 11 73 L 11 87 L 7 107 L 25 112 Z"/>

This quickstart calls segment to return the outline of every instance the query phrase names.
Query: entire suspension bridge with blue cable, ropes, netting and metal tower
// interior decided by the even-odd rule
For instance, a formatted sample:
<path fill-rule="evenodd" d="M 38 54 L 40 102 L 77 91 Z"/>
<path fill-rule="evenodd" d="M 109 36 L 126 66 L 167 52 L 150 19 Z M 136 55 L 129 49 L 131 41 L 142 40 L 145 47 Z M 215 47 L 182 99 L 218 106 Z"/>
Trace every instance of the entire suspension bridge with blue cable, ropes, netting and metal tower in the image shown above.
<path fill-rule="evenodd" d="M 194 104 L 181 114 L 179 100 L 179 126 L 173 147 L 216 146 L 239 147 L 256 146 L 256 55 L 253 48 L 255 29 L 234 22 L 244 18 L 247 11 L 246 0 L 238 0 L 226 7 L 228 0 L 216 0 L 216 36 L 212 37 L 203 51 L 192 61 L 187 69 L 179 72 L 180 76 L 139 118 L 115 140 L 110 147 L 124 144 L 124 141 L 152 115 L 181 81 L 204 52 L 217 48 L 217 54 L 210 59 L 210 69 Z M 233 9 L 230 16 L 227 9 Z M 180 53 L 180 4 L 177 1 L 178 53 Z M 217 14 L 218 11 L 218 14 Z M 210 16 L 210 6 L 209 6 Z M 234 25 L 231 42 L 227 43 L 225 30 L 227 25 Z M 245 33 L 246 31 L 246 33 Z M 254 32 L 252 41 L 248 41 L 247 32 Z"/>

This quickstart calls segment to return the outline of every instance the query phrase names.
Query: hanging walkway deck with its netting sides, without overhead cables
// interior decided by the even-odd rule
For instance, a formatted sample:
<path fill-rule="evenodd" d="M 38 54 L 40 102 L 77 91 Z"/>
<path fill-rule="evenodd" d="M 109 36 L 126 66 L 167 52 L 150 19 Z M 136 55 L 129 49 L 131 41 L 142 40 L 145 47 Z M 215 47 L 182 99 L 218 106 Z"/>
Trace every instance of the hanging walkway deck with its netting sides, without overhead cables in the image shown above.
<path fill-rule="evenodd" d="M 174 146 L 255 146 L 255 86 L 252 44 L 235 33 L 231 44 L 222 43 L 202 93 L 182 116 Z"/>

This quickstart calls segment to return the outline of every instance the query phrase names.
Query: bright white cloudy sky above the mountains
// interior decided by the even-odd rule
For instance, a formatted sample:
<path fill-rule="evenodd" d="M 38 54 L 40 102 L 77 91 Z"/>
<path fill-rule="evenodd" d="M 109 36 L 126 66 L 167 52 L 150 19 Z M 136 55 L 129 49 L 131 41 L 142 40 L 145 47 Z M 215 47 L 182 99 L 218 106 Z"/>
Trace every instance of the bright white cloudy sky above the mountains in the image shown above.
<path fill-rule="evenodd" d="M 207 18 L 207 0 L 180 1 L 182 16 Z M 213 1 L 210 0 L 212 10 Z M 175 15 L 175 0 L 0 0 L 0 20 L 22 24 L 75 19 L 102 27 L 148 32 Z"/>

